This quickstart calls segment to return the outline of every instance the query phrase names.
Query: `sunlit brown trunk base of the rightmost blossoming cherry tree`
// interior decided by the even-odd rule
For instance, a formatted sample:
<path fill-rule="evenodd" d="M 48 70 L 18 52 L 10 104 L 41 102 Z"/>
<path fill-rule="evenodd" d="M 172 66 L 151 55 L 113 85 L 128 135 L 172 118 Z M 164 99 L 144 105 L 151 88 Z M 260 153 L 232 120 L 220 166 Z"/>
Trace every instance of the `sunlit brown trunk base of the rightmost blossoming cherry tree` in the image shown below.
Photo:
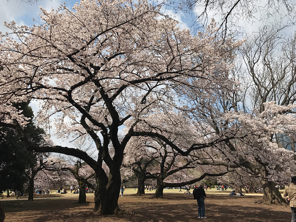
<path fill-rule="evenodd" d="M 276 184 L 274 182 L 261 178 L 260 183 L 264 191 L 263 200 L 261 202 L 266 204 L 285 204 L 285 200 L 282 198 L 278 188 L 275 187 Z"/>

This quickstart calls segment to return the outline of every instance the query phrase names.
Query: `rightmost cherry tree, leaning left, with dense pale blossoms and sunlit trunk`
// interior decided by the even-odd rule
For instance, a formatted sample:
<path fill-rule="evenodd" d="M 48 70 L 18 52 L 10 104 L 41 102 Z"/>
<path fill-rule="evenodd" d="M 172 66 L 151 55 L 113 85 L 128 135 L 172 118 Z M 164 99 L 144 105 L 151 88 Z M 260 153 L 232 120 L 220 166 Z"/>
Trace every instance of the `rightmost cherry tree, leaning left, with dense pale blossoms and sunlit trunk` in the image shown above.
<path fill-rule="evenodd" d="M 296 165 L 291 161 L 294 152 L 280 146 L 276 137 L 282 134 L 295 137 L 294 114 L 287 113 L 295 105 L 279 106 L 269 102 L 264 107 L 262 113 L 227 113 L 224 116 L 227 128 L 231 125 L 239 139 L 221 144 L 219 150 L 231 163 L 259 179 L 264 191 L 263 202 L 283 204 L 276 185 L 290 181 Z"/>

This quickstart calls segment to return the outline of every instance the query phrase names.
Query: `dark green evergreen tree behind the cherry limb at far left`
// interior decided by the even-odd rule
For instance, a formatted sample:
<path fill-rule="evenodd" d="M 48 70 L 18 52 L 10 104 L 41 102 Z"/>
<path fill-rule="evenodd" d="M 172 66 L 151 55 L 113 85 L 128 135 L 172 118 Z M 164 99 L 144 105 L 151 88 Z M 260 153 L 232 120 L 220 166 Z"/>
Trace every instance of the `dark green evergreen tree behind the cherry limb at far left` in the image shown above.
<path fill-rule="evenodd" d="M 24 128 L 30 141 L 34 144 L 41 142 L 44 131 L 34 125 L 32 121 L 34 115 L 29 102 L 16 103 L 14 106 L 22 110 L 25 117 L 30 118 Z M 15 130 L 2 127 L 0 129 L 0 192 L 9 189 L 16 191 L 18 195 L 23 194 L 29 184 L 28 175 L 37 165 L 37 158 L 36 153 L 25 149 Z"/>

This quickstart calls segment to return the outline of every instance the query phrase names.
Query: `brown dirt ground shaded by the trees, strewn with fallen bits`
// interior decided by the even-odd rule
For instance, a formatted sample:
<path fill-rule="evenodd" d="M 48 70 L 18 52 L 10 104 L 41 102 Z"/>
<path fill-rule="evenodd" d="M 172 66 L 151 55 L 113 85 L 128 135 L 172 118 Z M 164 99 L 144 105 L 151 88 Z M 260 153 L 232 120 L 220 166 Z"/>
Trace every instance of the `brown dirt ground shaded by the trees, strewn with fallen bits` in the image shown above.
<path fill-rule="evenodd" d="M 199 219 L 197 203 L 193 195 L 183 192 L 164 193 L 163 199 L 151 199 L 152 192 L 143 197 L 124 195 L 119 197 L 120 208 L 134 215 L 97 216 L 92 213 L 93 194 L 87 194 L 87 203 L 78 204 L 78 195 L 49 195 L 34 201 L 15 197 L 1 199 L 6 213 L 5 222 L 287 222 L 291 219 L 290 207 L 256 204 L 262 195 L 247 194 L 245 197 L 228 196 L 230 191 L 207 192 L 205 200 L 207 219 Z M 125 192 L 128 194 L 128 192 Z"/>

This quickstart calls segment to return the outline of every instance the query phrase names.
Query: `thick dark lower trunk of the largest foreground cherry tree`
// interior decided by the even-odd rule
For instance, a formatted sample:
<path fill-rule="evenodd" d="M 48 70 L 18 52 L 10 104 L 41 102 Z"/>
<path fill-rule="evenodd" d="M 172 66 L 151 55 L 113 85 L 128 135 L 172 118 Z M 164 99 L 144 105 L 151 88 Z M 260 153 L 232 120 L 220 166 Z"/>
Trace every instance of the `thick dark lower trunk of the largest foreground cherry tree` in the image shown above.
<path fill-rule="evenodd" d="M 97 175 L 99 175 L 97 173 Z M 118 198 L 121 186 L 121 175 L 118 169 L 110 169 L 108 179 L 97 177 L 97 187 L 95 190 L 94 211 L 99 215 L 118 214 Z"/>

